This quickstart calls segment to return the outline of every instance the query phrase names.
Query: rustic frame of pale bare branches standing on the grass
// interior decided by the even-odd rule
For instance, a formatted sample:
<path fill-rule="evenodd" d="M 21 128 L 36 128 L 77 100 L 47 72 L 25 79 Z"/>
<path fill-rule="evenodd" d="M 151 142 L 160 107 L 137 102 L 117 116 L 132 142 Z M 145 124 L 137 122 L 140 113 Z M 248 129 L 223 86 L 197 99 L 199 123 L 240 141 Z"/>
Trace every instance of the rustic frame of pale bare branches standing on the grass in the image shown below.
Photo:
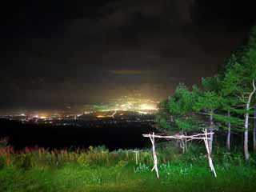
<path fill-rule="evenodd" d="M 209 150 L 209 145 L 208 145 L 208 141 L 210 140 L 210 135 L 214 134 L 214 133 L 207 133 L 207 130 L 204 130 L 202 134 L 194 134 L 194 135 L 184 135 L 184 134 L 174 134 L 174 135 L 170 135 L 170 136 L 162 136 L 162 135 L 157 135 L 157 134 L 142 134 L 142 136 L 144 138 L 150 138 L 150 142 L 152 144 L 152 153 L 153 153 L 153 160 L 154 160 L 154 166 L 152 168 L 151 171 L 155 170 L 156 174 L 157 174 L 157 178 L 159 178 L 159 174 L 158 174 L 158 157 L 156 154 L 156 150 L 155 150 L 155 141 L 154 138 L 165 138 L 165 139 L 179 139 L 179 140 L 186 140 L 186 142 L 188 141 L 192 141 L 192 140 L 203 140 L 206 146 L 206 152 L 207 152 L 207 158 L 208 158 L 208 163 L 210 166 L 210 170 L 214 173 L 214 176 L 217 177 L 216 171 L 214 169 L 214 164 L 213 164 L 213 160 L 210 156 L 210 150 Z"/>

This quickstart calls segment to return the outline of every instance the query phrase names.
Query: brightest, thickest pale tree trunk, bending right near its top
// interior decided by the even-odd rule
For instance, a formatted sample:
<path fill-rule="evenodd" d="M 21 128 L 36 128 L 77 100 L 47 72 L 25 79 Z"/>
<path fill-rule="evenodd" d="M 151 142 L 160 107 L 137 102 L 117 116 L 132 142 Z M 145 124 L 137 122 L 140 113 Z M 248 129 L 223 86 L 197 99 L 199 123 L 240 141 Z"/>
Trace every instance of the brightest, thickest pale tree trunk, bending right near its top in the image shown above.
<path fill-rule="evenodd" d="M 250 158 L 250 154 L 249 154 L 249 150 L 248 150 L 248 128 L 249 128 L 250 102 L 251 102 L 251 98 L 253 97 L 253 95 L 256 91 L 256 86 L 255 86 L 254 80 L 253 80 L 253 87 L 254 87 L 254 90 L 252 92 L 250 92 L 248 101 L 246 103 L 245 132 L 244 132 L 244 144 L 243 144 L 246 161 L 249 160 L 249 158 Z"/>

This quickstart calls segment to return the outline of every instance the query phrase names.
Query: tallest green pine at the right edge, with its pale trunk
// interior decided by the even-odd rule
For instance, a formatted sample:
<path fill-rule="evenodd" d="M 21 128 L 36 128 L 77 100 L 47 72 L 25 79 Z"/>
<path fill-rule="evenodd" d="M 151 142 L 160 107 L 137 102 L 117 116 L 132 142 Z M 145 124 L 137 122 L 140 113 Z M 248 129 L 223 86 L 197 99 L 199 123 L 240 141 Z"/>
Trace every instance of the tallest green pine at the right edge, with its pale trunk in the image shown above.
<path fill-rule="evenodd" d="M 250 154 L 248 150 L 249 118 L 251 102 L 256 92 L 256 27 L 252 30 L 248 43 L 239 54 L 232 55 L 232 63 L 226 66 L 222 80 L 225 95 L 237 98 L 244 113 L 244 154 L 246 160 Z"/>

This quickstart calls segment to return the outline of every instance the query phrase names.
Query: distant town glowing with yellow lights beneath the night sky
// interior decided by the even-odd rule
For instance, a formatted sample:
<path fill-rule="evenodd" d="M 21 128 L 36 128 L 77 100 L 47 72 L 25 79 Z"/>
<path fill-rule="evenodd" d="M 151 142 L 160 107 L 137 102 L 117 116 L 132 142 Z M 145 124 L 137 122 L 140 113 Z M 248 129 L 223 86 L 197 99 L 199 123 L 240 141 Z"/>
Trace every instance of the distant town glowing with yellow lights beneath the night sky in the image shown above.
<path fill-rule="evenodd" d="M 151 121 L 158 111 L 158 101 L 148 98 L 124 96 L 110 102 L 84 106 L 65 106 L 58 111 L 26 111 L 2 114 L 0 118 L 23 123 L 70 125 L 70 121 Z M 150 119 L 150 120 L 149 120 Z"/>

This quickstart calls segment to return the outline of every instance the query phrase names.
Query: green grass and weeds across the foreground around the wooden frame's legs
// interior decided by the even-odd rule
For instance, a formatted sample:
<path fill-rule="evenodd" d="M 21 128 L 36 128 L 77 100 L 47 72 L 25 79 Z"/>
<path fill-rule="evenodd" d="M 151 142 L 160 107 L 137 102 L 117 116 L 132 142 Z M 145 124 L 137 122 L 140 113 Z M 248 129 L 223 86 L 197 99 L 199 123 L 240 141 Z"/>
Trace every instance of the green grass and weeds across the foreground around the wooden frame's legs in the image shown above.
<path fill-rule="evenodd" d="M 150 150 L 140 152 L 135 164 L 132 150 L 26 150 L 0 151 L 0 191 L 255 191 L 254 157 L 216 150 L 210 172 L 206 156 L 195 147 L 187 154 L 158 149 L 160 178 L 151 172 Z"/>

